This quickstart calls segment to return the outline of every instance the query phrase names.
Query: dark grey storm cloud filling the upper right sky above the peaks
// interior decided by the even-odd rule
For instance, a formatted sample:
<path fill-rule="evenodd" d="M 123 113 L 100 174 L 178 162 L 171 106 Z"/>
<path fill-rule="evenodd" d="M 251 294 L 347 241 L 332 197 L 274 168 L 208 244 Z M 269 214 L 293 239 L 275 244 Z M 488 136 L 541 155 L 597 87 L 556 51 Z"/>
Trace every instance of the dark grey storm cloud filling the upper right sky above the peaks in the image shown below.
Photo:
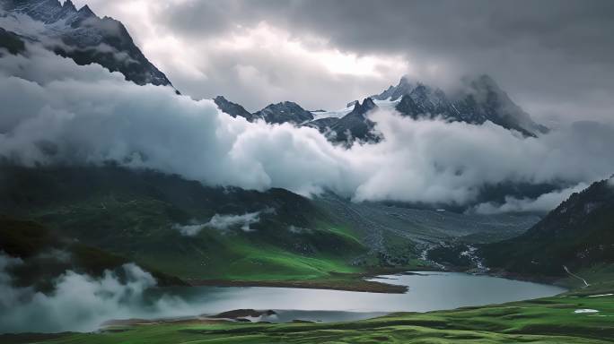
<path fill-rule="evenodd" d="M 602 117 L 614 91 L 612 18 L 611 1 L 294 0 L 189 1 L 165 22 L 202 37 L 265 21 L 348 51 L 403 54 L 418 69 L 447 65 L 451 77 L 492 74 L 542 117 Z"/>

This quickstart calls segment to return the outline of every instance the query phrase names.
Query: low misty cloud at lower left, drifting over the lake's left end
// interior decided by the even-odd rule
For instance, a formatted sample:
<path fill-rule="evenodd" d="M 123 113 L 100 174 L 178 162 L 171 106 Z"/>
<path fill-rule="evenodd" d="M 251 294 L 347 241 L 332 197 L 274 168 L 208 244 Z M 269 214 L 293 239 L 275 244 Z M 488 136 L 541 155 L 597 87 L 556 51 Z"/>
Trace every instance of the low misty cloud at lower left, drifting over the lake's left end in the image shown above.
<path fill-rule="evenodd" d="M 156 282 L 133 263 L 105 271 L 100 278 L 66 271 L 46 293 L 13 286 L 10 270 L 21 264 L 0 253 L 0 333 L 95 331 L 110 319 L 189 314 L 177 297 L 148 300 L 145 290 Z"/>

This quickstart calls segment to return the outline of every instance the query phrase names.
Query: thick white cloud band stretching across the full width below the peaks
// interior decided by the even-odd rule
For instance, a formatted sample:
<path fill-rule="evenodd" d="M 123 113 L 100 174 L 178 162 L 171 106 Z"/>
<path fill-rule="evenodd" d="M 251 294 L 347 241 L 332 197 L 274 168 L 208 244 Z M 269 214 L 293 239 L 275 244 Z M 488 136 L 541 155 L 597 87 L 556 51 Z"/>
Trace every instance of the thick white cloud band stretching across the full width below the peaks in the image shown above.
<path fill-rule="evenodd" d="M 207 185 L 452 204 L 475 202 L 484 185 L 577 185 L 614 171 L 611 123 L 575 122 L 526 138 L 490 123 L 379 110 L 371 116 L 385 140 L 345 149 L 315 129 L 249 123 L 210 100 L 29 50 L 0 58 L 0 156 L 27 166 L 113 160 Z"/>

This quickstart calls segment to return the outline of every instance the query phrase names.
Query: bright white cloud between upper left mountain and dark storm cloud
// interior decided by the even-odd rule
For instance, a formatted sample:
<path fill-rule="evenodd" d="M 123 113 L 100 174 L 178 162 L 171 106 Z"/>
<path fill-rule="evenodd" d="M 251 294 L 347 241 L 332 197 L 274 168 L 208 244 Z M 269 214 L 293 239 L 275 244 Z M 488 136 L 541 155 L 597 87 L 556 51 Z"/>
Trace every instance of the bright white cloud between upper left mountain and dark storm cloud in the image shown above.
<path fill-rule="evenodd" d="M 296 101 L 310 109 L 335 109 L 388 87 L 391 81 L 408 73 L 404 56 L 338 49 L 326 38 L 299 38 L 267 21 L 225 22 L 228 18 L 224 12 L 234 8 L 231 3 L 218 3 L 211 8 L 210 13 L 219 13 L 224 24 L 207 26 L 200 34 L 167 26 L 179 22 L 175 22 L 175 6 L 184 12 L 183 22 L 191 22 L 196 18 L 190 10 L 200 13 L 200 4 L 90 4 L 99 13 L 119 19 L 129 17 L 124 22 L 145 56 L 182 93 L 195 99 L 224 95 L 250 111 L 283 100 Z M 207 22 L 216 21 L 212 18 Z"/>

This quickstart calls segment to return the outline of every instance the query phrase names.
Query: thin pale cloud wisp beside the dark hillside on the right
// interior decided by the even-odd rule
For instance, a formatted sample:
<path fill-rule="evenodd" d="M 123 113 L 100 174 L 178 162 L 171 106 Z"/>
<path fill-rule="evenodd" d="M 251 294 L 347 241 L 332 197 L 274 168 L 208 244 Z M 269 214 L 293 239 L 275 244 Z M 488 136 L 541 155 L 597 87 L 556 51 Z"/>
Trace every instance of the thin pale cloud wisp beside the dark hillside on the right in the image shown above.
<path fill-rule="evenodd" d="M 557 208 L 558 204 L 568 199 L 569 196 L 572 195 L 572 193 L 579 193 L 588 186 L 589 185 L 587 184 L 580 183 L 578 185 L 575 185 L 574 187 L 570 187 L 564 190 L 541 194 L 536 199 L 519 199 L 507 196 L 505 197 L 504 204 L 497 204 L 494 202 L 480 203 L 474 207 L 473 211 L 479 214 L 498 214 L 504 212 L 522 211 L 547 212 Z"/>

